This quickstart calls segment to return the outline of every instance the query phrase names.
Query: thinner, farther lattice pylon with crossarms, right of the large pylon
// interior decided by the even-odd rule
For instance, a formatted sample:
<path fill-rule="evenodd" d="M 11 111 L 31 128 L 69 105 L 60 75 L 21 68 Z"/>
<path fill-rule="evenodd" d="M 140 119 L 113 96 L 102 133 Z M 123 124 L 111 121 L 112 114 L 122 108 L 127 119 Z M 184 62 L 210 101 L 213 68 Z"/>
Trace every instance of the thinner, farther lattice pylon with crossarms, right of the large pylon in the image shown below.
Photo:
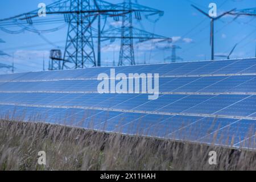
<path fill-rule="evenodd" d="M 134 39 L 137 39 L 139 43 L 153 39 L 155 41 L 159 40 L 161 42 L 172 42 L 171 38 L 135 28 L 133 24 L 133 19 L 137 19 L 139 22 L 142 20 L 142 14 L 145 14 L 144 17 L 148 20 L 150 20 L 150 16 L 156 16 L 156 19 L 154 20 L 155 23 L 156 20 L 163 16 L 163 11 L 142 6 L 138 3 L 132 3 L 131 0 L 123 0 L 123 3 L 119 3 L 117 5 L 123 7 L 123 9 L 128 10 L 129 13 L 122 15 L 121 28 L 111 27 L 108 30 L 101 32 L 101 38 L 111 39 L 112 42 L 113 39 L 121 39 L 118 65 L 136 64 L 134 56 Z M 116 20 L 119 21 L 119 17 Z"/>

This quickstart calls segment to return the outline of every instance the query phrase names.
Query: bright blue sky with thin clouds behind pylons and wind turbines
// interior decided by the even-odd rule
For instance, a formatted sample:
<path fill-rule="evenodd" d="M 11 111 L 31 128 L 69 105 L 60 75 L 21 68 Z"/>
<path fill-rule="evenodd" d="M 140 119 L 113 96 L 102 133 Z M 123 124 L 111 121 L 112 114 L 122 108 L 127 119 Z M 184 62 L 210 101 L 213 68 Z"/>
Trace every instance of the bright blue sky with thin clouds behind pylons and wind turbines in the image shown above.
<path fill-rule="evenodd" d="M 135 0 L 133 0 L 135 1 Z M 9 0 L 0 1 L 0 18 L 25 13 L 37 9 L 40 2 L 47 4 L 52 0 Z M 109 0 L 109 2 L 117 3 L 118 0 Z M 200 9 L 208 12 L 209 3 L 217 4 L 217 13 L 233 8 L 246 9 L 256 7 L 256 1 L 252 0 L 138 0 L 138 3 L 145 6 L 154 7 L 163 10 L 164 16 L 158 22 L 151 23 L 147 19 L 143 19 L 142 23 L 134 20 L 134 26 L 155 34 L 164 35 L 173 38 L 175 44 L 182 49 L 177 50 L 177 55 L 182 57 L 184 61 L 205 60 L 210 59 L 210 21 L 203 14 L 191 7 L 191 4 L 200 7 Z M 59 16 L 60 17 L 60 16 Z M 48 17 L 49 18 L 49 17 Z M 111 20 L 110 20 L 111 23 Z M 35 26 L 38 30 L 46 30 L 61 26 L 60 24 L 51 24 L 43 26 Z M 141 24 L 143 26 L 141 26 Z M 255 56 L 256 46 L 256 18 L 250 16 L 241 16 L 234 20 L 234 16 L 224 16 L 215 23 L 215 52 L 216 54 L 227 54 L 238 43 L 232 58 L 253 57 Z M 0 26 L 1 28 L 1 26 Z M 9 27 L 9 30 L 18 30 L 20 28 Z M 0 39 L 6 43 L 0 43 L 0 50 L 14 55 L 15 72 L 40 71 L 43 69 L 43 57 L 48 63 L 49 50 L 52 48 L 64 49 L 65 39 L 67 35 L 67 26 L 59 31 L 43 36 L 52 44 L 49 44 L 33 32 L 23 32 L 21 34 L 7 34 L 0 30 Z M 112 65 L 113 60 L 118 61 L 119 40 L 114 43 L 105 42 L 102 45 L 102 64 Z M 138 44 L 135 41 L 135 53 L 137 63 L 163 63 L 164 57 L 171 55 L 170 49 L 163 50 L 168 45 L 156 45 L 152 42 Z M 157 47 L 158 48 L 157 48 Z M 146 59 L 145 59 L 146 57 Z M 1 56 L 0 63 L 11 64 L 12 57 Z M 46 64 L 47 67 L 47 64 Z M 0 69 L 0 73 L 7 72 Z"/>

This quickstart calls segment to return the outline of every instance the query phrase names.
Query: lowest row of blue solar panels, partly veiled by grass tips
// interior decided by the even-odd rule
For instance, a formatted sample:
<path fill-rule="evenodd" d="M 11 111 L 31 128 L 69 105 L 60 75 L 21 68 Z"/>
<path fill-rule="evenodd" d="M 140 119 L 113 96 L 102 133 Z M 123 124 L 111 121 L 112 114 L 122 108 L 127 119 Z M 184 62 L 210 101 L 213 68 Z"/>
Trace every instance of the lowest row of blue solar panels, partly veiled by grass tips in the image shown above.
<path fill-rule="evenodd" d="M 129 135 L 255 148 L 255 120 L 250 119 L 51 107 L 1 107 L 1 113 L 7 114 L 8 111 L 20 121 L 43 121 Z M 13 111 L 14 114 L 11 113 Z"/>

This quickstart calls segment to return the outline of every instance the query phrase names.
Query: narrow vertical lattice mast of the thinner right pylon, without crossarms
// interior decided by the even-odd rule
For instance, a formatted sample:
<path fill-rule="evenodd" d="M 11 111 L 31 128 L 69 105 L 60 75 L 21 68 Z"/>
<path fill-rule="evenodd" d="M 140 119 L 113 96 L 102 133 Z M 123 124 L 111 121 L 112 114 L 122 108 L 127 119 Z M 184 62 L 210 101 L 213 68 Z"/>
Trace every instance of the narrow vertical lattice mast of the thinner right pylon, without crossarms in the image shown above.
<path fill-rule="evenodd" d="M 131 10 L 131 0 L 124 0 L 123 9 Z M 121 27 L 121 49 L 118 65 L 135 65 L 134 47 L 133 47 L 133 14 L 125 14 L 122 16 Z"/>

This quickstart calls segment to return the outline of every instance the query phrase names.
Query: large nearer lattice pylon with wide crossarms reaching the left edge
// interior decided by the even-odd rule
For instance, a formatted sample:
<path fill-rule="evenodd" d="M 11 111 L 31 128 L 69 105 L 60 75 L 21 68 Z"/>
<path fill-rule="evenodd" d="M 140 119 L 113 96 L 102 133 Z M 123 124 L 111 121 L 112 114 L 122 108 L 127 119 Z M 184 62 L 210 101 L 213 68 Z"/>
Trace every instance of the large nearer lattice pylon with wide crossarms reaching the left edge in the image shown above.
<path fill-rule="evenodd" d="M 125 3 L 125 5 L 127 5 Z M 46 15 L 61 15 L 63 20 L 68 23 L 68 34 L 65 44 L 64 56 L 61 61 L 61 69 L 69 68 L 86 68 L 100 66 L 100 44 L 98 45 L 98 60 L 96 61 L 96 50 L 94 49 L 94 41 L 92 36 L 92 25 L 98 18 L 98 27 L 100 27 L 100 18 L 112 17 L 118 20 L 119 17 L 129 16 L 132 19 L 132 14 L 140 16 L 144 12 L 147 16 L 160 14 L 163 11 L 151 9 L 146 6 L 141 6 L 131 3 L 127 7 L 121 4 L 114 5 L 102 0 L 60 0 L 46 6 Z M 22 26 L 24 30 L 31 30 L 34 24 L 40 22 L 52 23 L 52 19 L 47 17 L 39 17 L 40 9 L 23 13 L 10 18 L 1 19 L 0 23 L 13 24 L 15 26 Z M 35 20 L 34 20 L 35 19 Z M 98 32 L 101 30 L 99 29 Z M 23 31 L 21 31 L 23 32 Z M 41 32 L 38 31 L 38 34 Z M 130 34 L 131 35 L 131 34 Z M 98 35 L 98 43 L 101 42 L 100 33 Z M 133 56 L 131 56 L 133 57 Z M 134 61 L 132 61 L 134 63 Z M 58 64 L 58 63 L 56 63 Z M 58 66 L 57 66 L 58 67 Z"/>

